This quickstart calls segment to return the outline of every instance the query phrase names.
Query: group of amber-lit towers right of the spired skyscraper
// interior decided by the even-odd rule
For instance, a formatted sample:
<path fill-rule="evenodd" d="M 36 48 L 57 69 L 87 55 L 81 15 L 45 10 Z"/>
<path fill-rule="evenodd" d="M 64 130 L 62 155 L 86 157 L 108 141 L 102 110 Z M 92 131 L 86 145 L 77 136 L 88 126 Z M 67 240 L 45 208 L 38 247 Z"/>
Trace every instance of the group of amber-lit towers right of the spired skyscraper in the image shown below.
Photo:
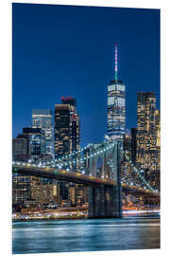
<path fill-rule="evenodd" d="M 161 121 L 156 109 L 154 92 L 137 93 L 137 127 L 126 131 L 123 149 L 133 165 L 141 170 L 144 179 L 160 190 Z M 126 158 L 122 162 L 122 176 L 132 170 Z"/>

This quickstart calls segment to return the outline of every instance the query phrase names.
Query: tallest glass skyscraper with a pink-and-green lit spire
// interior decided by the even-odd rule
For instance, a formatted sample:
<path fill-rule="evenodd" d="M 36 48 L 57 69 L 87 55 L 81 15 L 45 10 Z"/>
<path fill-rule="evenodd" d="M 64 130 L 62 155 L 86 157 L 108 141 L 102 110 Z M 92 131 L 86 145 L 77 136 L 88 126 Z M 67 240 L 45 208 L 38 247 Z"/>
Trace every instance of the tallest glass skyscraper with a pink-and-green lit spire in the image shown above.
<path fill-rule="evenodd" d="M 117 45 L 115 49 L 114 80 L 108 85 L 107 136 L 112 139 L 121 138 L 126 129 L 125 84 L 118 80 Z"/>

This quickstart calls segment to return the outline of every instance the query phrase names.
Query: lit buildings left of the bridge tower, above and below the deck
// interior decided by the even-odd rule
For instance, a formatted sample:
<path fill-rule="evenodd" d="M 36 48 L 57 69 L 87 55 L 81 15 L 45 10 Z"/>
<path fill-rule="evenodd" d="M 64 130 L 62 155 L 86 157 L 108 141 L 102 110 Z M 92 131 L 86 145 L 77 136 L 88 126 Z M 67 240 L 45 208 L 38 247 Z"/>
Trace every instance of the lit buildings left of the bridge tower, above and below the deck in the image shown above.
<path fill-rule="evenodd" d="M 14 161 L 43 163 L 79 151 L 80 125 L 76 99 L 62 97 L 61 102 L 55 105 L 54 113 L 53 121 L 51 110 L 32 110 L 32 126 L 23 128 L 23 133 L 12 141 Z M 78 172 L 78 163 L 72 164 L 70 168 Z M 64 181 L 22 174 L 13 174 L 12 181 L 12 202 L 15 207 L 87 203 L 82 196 L 79 201 L 76 200 L 79 190 L 83 191 L 84 188 Z"/>

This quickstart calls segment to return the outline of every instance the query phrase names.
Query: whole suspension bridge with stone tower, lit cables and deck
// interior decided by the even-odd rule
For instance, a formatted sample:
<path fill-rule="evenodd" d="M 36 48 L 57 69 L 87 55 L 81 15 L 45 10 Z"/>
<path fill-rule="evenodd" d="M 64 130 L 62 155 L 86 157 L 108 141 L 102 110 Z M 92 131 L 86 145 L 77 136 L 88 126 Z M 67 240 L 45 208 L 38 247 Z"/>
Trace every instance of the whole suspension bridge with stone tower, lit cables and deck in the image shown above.
<path fill-rule="evenodd" d="M 123 155 L 132 170 L 130 174 L 127 172 L 121 175 Z M 143 170 L 133 166 L 122 149 L 122 142 L 118 140 L 90 144 L 80 151 L 52 161 L 13 161 L 12 172 L 87 186 L 89 218 L 121 218 L 122 198 L 128 194 L 160 204 L 160 192 L 144 179 Z"/>

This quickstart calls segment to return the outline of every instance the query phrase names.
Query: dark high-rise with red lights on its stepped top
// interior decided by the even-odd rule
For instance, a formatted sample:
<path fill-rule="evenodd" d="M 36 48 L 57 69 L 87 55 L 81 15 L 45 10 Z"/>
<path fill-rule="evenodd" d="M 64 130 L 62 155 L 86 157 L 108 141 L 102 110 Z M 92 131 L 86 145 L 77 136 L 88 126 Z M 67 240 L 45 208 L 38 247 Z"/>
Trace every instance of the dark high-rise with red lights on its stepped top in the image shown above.
<path fill-rule="evenodd" d="M 61 98 L 55 105 L 55 158 L 79 151 L 80 128 L 76 99 Z"/>

